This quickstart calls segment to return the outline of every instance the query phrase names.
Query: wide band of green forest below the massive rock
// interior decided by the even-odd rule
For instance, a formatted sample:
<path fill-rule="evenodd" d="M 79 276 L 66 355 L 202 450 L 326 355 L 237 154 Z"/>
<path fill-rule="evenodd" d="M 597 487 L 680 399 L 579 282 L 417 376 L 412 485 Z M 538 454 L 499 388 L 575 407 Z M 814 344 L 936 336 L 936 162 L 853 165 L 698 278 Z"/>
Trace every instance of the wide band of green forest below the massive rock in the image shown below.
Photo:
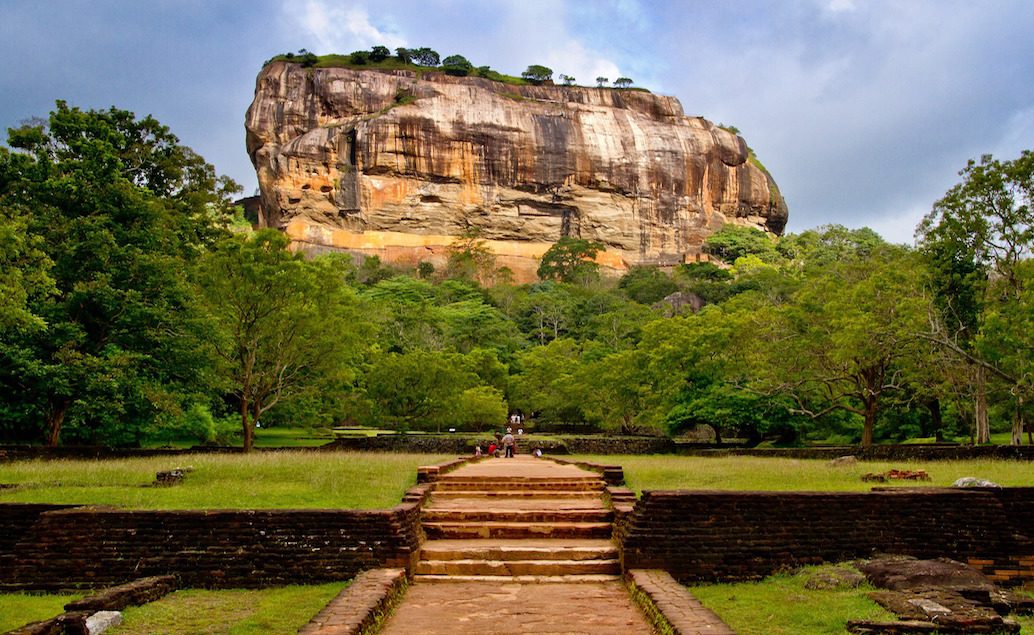
<path fill-rule="evenodd" d="M 559 240 L 515 284 L 310 256 L 253 231 L 151 117 L 59 101 L 0 147 L 0 439 L 250 448 L 265 427 L 497 428 L 752 444 L 1030 443 L 1034 154 L 983 156 L 914 246 L 726 225 L 705 262 L 615 278 Z"/>

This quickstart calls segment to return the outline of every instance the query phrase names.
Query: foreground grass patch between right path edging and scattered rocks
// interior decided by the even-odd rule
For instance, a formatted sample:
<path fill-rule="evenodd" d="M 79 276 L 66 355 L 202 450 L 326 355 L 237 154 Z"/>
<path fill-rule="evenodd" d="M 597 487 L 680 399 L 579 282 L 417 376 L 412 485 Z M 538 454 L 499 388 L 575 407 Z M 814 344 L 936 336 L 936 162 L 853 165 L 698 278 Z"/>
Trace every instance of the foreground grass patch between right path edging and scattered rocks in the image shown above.
<path fill-rule="evenodd" d="M 872 586 L 804 588 L 804 581 L 818 569 L 779 574 L 761 582 L 691 586 L 690 592 L 741 635 L 841 635 L 848 619 L 895 619 L 865 597 Z"/>

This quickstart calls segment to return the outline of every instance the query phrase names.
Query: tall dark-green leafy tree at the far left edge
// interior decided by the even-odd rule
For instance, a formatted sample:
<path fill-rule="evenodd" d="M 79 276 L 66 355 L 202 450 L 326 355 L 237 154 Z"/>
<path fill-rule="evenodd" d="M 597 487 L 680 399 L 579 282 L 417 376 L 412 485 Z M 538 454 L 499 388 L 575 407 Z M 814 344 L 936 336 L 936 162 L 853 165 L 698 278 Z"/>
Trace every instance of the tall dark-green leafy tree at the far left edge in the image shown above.
<path fill-rule="evenodd" d="M 205 390 L 183 272 L 239 188 L 153 118 L 115 108 L 58 101 L 8 143 L 0 284 L 6 319 L 27 328 L 0 333 L 0 419 L 21 435 L 42 422 L 50 445 L 138 440 Z"/>

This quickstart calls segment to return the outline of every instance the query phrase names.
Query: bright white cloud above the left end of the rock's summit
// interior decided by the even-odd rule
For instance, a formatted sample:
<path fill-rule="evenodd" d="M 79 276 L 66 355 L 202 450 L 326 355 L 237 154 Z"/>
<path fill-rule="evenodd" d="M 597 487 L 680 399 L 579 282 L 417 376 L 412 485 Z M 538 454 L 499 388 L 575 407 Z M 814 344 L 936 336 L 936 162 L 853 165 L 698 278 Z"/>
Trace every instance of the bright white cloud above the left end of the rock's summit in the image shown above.
<path fill-rule="evenodd" d="M 328 0 L 307 0 L 299 11 L 296 2 L 284 0 L 281 10 L 306 32 L 314 53 L 351 53 L 378 44 L 395 49 L 406 42 L 402 35 L 371 23 L 366 7 L 357 4 L 336 6 Z"/>

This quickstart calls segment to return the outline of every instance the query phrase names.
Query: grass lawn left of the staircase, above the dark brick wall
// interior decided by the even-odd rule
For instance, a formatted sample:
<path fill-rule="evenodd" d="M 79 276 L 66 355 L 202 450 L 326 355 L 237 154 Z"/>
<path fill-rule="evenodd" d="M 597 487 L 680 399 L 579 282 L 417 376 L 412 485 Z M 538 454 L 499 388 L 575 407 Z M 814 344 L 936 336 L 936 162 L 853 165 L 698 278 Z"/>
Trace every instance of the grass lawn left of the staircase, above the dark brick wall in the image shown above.
<path fill-rule="evenodd" d="M 373 509 L 397 505 L 432 454 L 261 452 L 0 463 L 0 503 L 130 509 Z M 158 471 L 190 465 L 181 485 L 149 487 Z"/>

